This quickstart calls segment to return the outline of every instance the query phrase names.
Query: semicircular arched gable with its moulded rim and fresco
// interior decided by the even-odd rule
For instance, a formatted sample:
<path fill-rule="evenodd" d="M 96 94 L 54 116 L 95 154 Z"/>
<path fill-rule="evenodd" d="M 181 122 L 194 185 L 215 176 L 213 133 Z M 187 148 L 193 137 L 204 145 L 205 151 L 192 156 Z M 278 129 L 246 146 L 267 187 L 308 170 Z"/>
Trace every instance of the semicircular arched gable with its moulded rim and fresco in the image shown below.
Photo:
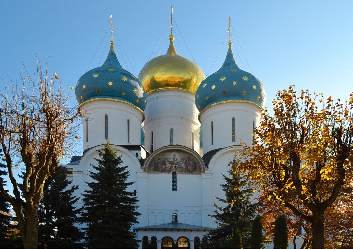
<path fill-rule="evenodd" d="M 149 174 L 199 175 L 205 172 L 202 158 L 194 150 L 181 145 L 169 145 L 152 152 L 145 160 L 144 171 Z"/>

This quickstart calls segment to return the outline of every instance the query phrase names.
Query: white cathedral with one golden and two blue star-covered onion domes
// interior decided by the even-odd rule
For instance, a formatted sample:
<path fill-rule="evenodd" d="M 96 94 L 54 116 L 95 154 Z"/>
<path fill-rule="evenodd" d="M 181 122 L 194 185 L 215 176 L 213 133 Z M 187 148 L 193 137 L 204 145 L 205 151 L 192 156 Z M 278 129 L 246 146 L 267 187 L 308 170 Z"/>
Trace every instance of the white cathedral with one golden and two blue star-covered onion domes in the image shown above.
<path fill-rule="evenodd" d="M 109 139 L 134 182 L 127 191 L 138 199 L 132 229 L 140 248 L 198 248 L 216 228 L 209 215 L 224 196 L 222 174 L 239 144 L 256 138 L 266 97 L 262 83 L 237 66 L 230 37 L 222 67 L 207 78 L 178 55 L 173 40 L 133 75 L 120 65 L 112 39 L 103 65 L 85 72 L 75 89 L 85 114 L 83 154 L 66 165 L 68 178 L 80 196 L 96 150 Z"/>

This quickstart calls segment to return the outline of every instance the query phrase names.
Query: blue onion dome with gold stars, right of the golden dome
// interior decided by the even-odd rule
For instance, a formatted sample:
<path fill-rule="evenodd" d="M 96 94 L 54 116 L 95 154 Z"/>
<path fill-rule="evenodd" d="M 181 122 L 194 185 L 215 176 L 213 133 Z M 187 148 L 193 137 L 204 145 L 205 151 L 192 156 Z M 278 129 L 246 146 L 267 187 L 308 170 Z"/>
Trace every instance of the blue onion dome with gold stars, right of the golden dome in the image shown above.
<path fill-rule="evenodd" d="M 247 102 L 263 107 L 266 100 L 262 83 L 251 73 L 241 70 L 235 63 L 232 43 L 223 66 L 203 80 L 195 95 L 199 111 L 226 102 Z"/>

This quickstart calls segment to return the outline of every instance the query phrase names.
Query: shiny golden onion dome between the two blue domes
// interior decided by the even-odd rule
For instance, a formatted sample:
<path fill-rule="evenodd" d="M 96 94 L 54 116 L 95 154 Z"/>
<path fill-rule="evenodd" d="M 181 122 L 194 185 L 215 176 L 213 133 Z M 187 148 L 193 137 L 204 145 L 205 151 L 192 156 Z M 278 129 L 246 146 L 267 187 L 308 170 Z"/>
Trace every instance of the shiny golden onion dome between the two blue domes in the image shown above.
<path fill-rule="evenodd" d="M 147 62 L 138 79 L 147 94 L 164 89 L 182 89 L 195 94 L 205 75 L 195 62 L 177 54 L 173 35 L 169 40 L 167 53 Z"/>

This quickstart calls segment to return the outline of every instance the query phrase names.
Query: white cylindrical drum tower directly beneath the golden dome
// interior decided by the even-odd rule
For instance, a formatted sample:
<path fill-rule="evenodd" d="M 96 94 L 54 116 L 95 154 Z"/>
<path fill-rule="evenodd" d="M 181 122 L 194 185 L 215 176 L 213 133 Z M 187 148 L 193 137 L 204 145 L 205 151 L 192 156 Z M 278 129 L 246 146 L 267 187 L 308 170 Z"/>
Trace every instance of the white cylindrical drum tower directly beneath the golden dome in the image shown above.
<path fill-rule="evenodd" d="M 199 152 L 199 111 L 195 105 L 195 95 L 182 90 L 162 90 L 148 94 L 145 109 L 145 147 L 151 152 L 170 145 L 170 129 L 174 131 L 174 145 L 192 147 Z M 152 142 L 153 132 L 153 142 Z"/>

